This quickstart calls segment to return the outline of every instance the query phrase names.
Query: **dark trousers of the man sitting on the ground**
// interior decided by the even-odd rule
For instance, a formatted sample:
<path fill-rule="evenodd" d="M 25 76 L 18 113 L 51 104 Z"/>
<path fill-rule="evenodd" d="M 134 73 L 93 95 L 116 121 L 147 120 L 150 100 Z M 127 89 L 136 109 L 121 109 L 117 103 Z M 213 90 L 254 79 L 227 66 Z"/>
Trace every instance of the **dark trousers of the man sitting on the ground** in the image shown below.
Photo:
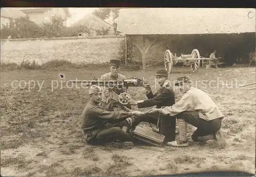
<path fill-rule="evenodd" d="M 131 141 L 131 136 L 124 132 L 121 128 L 126 126 L 130 128 L 130 124 L 124 120 L 118 123 L 110 124 L 97 131 L 97 134 L 90 140 L 90 144 L 104 145 L 115 141 Z"/>

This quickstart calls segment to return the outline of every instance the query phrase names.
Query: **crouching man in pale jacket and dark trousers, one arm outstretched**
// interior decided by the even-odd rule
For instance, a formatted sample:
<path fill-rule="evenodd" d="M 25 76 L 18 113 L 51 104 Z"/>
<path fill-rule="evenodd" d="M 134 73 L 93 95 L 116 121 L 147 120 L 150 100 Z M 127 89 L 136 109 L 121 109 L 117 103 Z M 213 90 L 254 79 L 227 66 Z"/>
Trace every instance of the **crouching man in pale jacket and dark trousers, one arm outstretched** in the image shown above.
<path fill-rule="evenodd" d="M 219 143 L 220 148 L 224 148 L 226 141 L 221 131 L 221 122 L 223 115 L 215 102 L 203 91 L 191 85 L 191 81 L 185 76 L 177 78 L 176 86 L 184 94 L 179 102 L 172 106 L 164 108 L 154 108 L 146 114 L 165 114 L 177 117 L 177 124 L 180 130 L 179 139 L 177 141 L 168 142 L 167 145 L 175 147 L 186 147 L 187 130 L 186 123 L 189 123 L 197 130 L 191 136 L 193 141 L 207 141 L 215 139 Z"/>

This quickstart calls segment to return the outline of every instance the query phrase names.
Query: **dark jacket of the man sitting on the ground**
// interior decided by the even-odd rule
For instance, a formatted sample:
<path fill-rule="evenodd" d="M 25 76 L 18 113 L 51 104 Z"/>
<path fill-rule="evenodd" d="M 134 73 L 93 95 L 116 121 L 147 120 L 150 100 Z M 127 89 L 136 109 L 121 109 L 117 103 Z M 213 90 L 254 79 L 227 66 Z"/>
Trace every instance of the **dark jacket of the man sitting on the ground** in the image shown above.
<path fill-rule="evenodd" d="M 125 120 L 132 116 L 132 113 L 121 110 L 119 112 L 109 112 L 98 106 L 95 102 L 90 101 L 83 109 L 81 115 L 81 127 L 87 141 L 90 141 L 97 132 L 106 127 L 108 121 Z"/>

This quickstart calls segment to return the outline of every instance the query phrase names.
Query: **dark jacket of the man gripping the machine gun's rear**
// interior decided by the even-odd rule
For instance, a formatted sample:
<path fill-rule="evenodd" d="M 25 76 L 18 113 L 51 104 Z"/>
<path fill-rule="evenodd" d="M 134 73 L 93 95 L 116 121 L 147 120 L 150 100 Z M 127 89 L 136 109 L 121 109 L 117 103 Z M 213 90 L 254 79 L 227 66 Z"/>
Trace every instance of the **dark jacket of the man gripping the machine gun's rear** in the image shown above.
<path fill-rule="evenodd" d="M 162 106 L 172 106 L 175 104 L 175 93 L 173 88 L 168 84 L 164 84 L 156 94 L 153 94 L 152 91 L 146 93 L 147 100 L 143 100 L 138 103 L 138 108 L 142 107 L 152 107 L 156 105 L 156 108 L 161 108 Z"/>

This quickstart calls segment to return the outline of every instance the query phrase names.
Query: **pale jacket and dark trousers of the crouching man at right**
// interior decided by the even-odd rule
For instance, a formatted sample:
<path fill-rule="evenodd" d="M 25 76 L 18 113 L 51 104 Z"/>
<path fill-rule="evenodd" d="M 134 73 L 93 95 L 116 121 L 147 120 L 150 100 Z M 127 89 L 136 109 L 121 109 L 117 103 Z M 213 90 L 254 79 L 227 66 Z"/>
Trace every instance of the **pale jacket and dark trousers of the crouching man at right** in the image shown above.
<path fill-rule="evenodd" d="M 191 138 L 198 141 L 198 137 L 213 134 L 221 127 L 223 114 L 214 101 L 203 91 L 196 87 L 190 89 L 183 95 L 179 102 L 159 110 L 160 114 L 177 116 L 177 120 L 197 127 Z M 185 129 L 185 128 L 184 128 Z M 186 134 L 180 136 L 186 141 Z"/>

